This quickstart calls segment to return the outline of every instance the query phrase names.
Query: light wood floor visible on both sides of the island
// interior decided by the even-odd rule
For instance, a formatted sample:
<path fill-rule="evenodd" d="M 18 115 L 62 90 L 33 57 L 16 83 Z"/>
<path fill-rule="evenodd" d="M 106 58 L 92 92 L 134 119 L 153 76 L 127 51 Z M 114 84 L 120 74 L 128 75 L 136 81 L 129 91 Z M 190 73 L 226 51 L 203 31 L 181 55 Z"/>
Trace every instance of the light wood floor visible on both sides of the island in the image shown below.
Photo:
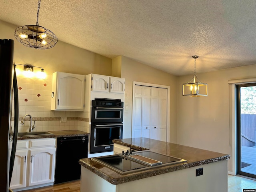
<path fill-rule="evenodd" d="M 256 189 L 256 180 L 228 175 L 228 192 L 242 192 L 243 189 Z M 80 192 L 80 180 L 22 192 Z"/>

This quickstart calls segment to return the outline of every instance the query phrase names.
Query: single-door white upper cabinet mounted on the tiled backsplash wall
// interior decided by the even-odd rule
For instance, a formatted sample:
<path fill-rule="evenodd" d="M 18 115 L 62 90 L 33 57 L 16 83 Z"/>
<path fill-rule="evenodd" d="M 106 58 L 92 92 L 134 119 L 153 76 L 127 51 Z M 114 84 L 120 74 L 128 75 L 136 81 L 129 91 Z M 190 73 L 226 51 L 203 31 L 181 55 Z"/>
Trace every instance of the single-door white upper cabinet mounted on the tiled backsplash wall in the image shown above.
<path fill-rule="evenodd" d="M 51 110 L 84 110 L 84 81 L 84 75 L 53 73 Z"/>

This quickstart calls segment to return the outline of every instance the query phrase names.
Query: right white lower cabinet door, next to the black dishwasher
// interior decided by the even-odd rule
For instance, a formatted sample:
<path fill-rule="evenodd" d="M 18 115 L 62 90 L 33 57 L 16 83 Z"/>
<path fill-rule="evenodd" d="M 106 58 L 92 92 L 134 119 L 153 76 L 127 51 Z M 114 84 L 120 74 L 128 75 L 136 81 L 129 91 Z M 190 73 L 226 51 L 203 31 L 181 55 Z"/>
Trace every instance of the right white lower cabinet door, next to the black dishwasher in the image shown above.
<path fill-rule="evenodd" d="M 54 182 L 55 150 L 56 148 L 30 150 L 29 186 Z"/>

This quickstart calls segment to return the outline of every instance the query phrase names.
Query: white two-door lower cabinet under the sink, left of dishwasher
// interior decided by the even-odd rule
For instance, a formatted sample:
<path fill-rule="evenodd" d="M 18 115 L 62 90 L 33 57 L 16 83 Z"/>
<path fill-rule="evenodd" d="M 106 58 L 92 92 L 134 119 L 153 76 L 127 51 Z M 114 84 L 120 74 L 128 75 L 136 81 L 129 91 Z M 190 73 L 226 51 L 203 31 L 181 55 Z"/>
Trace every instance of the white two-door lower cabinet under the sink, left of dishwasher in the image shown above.
<path fill-rule="evenodd" d="M 10 188 L 53 183 L 55 153 L 56 138 L 18 140 Z"/>

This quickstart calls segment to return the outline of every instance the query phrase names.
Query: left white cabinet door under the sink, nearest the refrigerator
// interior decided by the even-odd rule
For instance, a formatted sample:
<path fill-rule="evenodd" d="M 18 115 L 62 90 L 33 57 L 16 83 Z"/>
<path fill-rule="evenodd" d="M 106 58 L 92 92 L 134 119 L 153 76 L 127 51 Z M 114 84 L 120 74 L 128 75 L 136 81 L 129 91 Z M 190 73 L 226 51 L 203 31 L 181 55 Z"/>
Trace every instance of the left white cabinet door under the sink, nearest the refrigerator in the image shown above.
<path fill-rule="evenodd" d="M 26 187 L 27 157 L 27 150 L 16 150 L 10 183 L 11 189 Z"/>

